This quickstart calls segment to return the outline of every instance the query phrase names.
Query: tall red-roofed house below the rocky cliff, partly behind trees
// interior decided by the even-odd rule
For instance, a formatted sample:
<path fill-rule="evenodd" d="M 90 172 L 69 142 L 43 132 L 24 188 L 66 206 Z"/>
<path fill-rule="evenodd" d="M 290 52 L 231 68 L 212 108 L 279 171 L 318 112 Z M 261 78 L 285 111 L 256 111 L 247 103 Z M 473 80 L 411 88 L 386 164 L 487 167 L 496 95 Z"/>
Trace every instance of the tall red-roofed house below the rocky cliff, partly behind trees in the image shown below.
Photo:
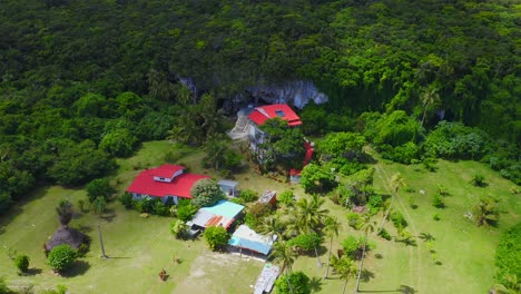
<path fill-rule="evenodd" d="M 249 114 L 249 144 L 254 153 L 257 153 L 262 157 L 262 150 L 258 145 L 263 144 L 266 139 L 266 134 L 258 128 L 266 120 L 271 118 L 279 117 L 287 121 L 289 127 L 296 127 L 302 125 L 301 118 L 293 111 L 293 109 L 286 104 L 266 105 L 256 107 L 252 114 Z"/>

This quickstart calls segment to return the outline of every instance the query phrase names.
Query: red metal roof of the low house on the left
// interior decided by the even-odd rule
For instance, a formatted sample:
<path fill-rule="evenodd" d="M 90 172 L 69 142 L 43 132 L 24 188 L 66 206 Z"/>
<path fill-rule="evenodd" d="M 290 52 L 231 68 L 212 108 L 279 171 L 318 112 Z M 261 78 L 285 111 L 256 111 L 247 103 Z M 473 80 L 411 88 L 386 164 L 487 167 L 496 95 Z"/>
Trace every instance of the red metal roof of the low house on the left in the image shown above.
<path fill-rule="evenodd" d="M 159 168 L 161 167 L 164 166 L 160 166 Z M 180 167 L 181 169 L 184 168 L 183 166 Z M 169 177 L 171 177 L 171 175 L 173 174 L 170 174 Z M 208 176 L 204 175 L 181 174 L 175 177 L 171 183 L 165 183 L 154 180 L 154 176 L 157 176 L 157 168 L 147 169 L 139 173 L 139 175 L 134 179 L 132 184 L 130 184 L 130 186 L 127 188 L 127 192 L 156 197 L 179 196 L 184 198 L 193 198 L 190 195 L 190 189 L 194 184 L 199 179 L 209 178 Z"/>

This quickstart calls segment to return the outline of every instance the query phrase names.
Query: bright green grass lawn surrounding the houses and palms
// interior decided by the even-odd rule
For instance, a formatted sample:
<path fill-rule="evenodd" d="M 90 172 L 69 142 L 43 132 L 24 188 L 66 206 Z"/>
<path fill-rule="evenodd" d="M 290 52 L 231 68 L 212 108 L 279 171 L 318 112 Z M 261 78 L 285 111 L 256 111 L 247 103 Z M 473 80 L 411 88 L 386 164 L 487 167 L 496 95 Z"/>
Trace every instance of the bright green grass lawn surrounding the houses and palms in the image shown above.
<path fill-rule="evenodd" d="M 141 168 L 155 167 L 164 163 L 164 155 L 173 146 L 167 141 L 145 143 L 132 157 L 118 159 L 119 169 L 112 177 L 118 193 L 125 190 Z M 212 169 L 203 168 L 201 153 L 188 153 L 179 159 L 190 171 L 204 173 L 220 178 Z M 401 189 L 394 208 L 401 210 L 407 222 L 407 229 L 419 236 L 429 233 L 435 237 L 440 265 L 435 264 L 424 242 L 416 238 L 416 246 L 406 246 L 394 241 L 384 241 L 371 236 L 376 248 L 368 255 L 365 268 L 370 278 L 361 284 L 361 290 L 368 293 L 395 292 L 401 285 L 414 288 L 417 293 L 485 293 L 493 284 L 493 256 L 499 233 L 519 222 L 519 202 L 510 193 L 512 183 L 502 179 L 495 171 L 473 161 L 439 161 L 436 173 L 429 173 L 419 166 L 397 164 L 376 164 L 374 185 L 377 193 L 390 194 L 389 180 L 400 171 L 409 187 Z M 480 173 L 485 176 L 488 186 L 478 188 L 469 184 L 472 176 Z M 306 197 L 298 186 L 278 183 L 245 168 L 235 175 L 240 189 L 262 193 L 265 189 L 283 192 L 292 188 L 297 197 Z M 432 206 L 432 196 L 436 184 L 449 188 L 446 208 Z M 424 195 L 420 190 L 424 190 Z M 464 213 L 482 195 L 501 198 L 503 213 L 498 227 L 475 227 Z M 410 207 L 409 198 L 414 197 L 416 209 Z M 8 284 L 35 284 L 37 290 L 66 285 L 71 293 L 250 293 L 250 285 L 256 281 L 263 263 L 239 259 L 229 254 L 212 253 L 204 241 L 176 241 L 168 232 L 170 217 L 142 218 L 134 210 L 126 210 L 118 202 L 112 202 L 101 217 L 91 212 L 78 213 L 71 226 L 81 227 L 92 237 L 90 252 L 70 271 L 67 276 L 55 275 L 41 251 L 41 245 L 58 227 L 55 207 L 61 199 L 86 199 L 82 189 L 65 189 L 58 186 L 45 187 L 33 192 L 24 203 L 20 203 L 9 215 L 0 218 L 0 275 Z M 76 206 L 78 207 L 78 206 Z M 360 235 L 347 226 L 345 208 L 326 200 L 326 208 L 343 222 L 343 229 L 334 242 L 334 252 L 350 234 Z M 78 210 L 78 209 L 77 209 Z M 438 213 L 441 220 L 433 220 Z M 375 216 L 380 224 L 382 215 Z M 97 224 L 101 224 L 104 241 L 109 259 L 99 258 L 100 246 Z M 392 224 L 385 225 L 392 235 L 396 231 Z M 315 257 L 301 256 L 294 271 L 304 271 L 316 282 L 317 293 L 341 293 L 343 282 L 331 275 L 331 280 L 321 280 L 325 273 L 328 239 L 324 239 L 321 251 L 323 267 L 317 266 Z M 8 248 L 28 254 L 33 275 L 18 276 L 12 262 L 8 258 Z M 173 255 L 180 264 L 174 264 Z M 375 258 L 381 254 L 382 258 Z M 165 268 L 169 278 L 160 282 L 158 273 Z M 354 290 L 350 281 L 347 292 Z"/>

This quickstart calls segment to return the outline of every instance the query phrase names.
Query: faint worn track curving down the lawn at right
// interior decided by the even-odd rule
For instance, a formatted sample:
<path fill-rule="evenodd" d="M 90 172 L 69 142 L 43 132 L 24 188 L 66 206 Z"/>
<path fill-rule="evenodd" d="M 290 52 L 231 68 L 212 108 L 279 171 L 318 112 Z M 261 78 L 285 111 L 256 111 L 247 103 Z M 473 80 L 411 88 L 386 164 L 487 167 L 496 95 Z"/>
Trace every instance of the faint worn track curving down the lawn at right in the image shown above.
<path fill-rule="evenodd" d="M 383 183 L 390 183 L 391 182 L 391 176 L 380 165 L 374 165 L 374 168 L 375 168 L 375 171 L 379 175 L 379 177 L 383 180 Z M 390 195 L 393 194 L 393 192 L 392 192 L 391 187 L 389 186 L 389 184 L 384 185 L 384 187 L 385 187 L 385 190 Z M 413 236 L 414 237 L 419 236 L 420 232 L 416 228 L 414 219 L 409 214 L 409 209 L 406 208 L 406 205 L 400 198 L 400 194 L 396 194 L 396 199 L 394 200 L 394 203 L 395 203 L 395 206 L 399 206 L 400 210 L 405 215 L 405 217 L 407 219 L 410 231 L 413 234 Z M 410 255 L 410 257 L 409 257 L 409 267 L 410 267 L 409 271 L 410 271 L 410 276 L 411 277 L 412 277 L 413 273 L 416 273 L 416 278 L 415 278 L 416 287 L 415 287 L 415 290 L 419 293 L 422 293 L 421 292 L 421 286 L 422 286 L 423 267 L 422 267 L 421 244 L 419 242 L 416 242 L 416 244 L 417 245 L 415 247 L 414 246 L 409 246 L 409 255 Z M 414 249 L 414 248 L 416 248 L 416 249 Z M 414 268 L 413 268 L 414 267 L 414 261 L 413 261 L 414 253 L 416 253 L 416 257 L 417 257 L 417 268 L 416 268 L 416 271 L 414 271 Z M 411 278 L 411 281 L 413 281 L 413 280 Z"/>

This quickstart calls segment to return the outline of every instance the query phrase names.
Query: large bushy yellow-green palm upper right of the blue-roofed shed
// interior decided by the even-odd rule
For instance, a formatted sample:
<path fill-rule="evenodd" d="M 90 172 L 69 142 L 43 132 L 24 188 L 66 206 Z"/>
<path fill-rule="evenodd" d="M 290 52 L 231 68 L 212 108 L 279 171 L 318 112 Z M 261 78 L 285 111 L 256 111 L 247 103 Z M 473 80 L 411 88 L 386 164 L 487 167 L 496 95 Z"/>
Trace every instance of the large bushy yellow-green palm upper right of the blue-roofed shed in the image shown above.
<path fill-rule="evenodd" d="M 323 225 L 324 218 L 330 210 L 323 209 L 322 205 L 324 199 L 314 194 L 311 200 L 302 198 L 296 203 L 296 224 L 303 234 L 311 234 L 317 232 L 320 226 Z M 322 267 L 321 257 L 315 246 L 315 255 L 318 261 L 318 266 Z"/>

